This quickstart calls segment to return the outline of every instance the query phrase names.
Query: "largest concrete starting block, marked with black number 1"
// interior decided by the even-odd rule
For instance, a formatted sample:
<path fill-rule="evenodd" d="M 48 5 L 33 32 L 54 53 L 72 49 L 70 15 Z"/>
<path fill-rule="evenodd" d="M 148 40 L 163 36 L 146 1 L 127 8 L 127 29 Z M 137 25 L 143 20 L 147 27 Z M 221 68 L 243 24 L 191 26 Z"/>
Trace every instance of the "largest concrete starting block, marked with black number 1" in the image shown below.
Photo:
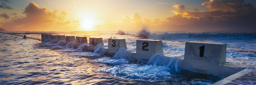
<path fill-rule="evenodd" d="M 227 77 L 243 68 L 225 65 L 227 44 L 186 42 L 182 69 Z"/>

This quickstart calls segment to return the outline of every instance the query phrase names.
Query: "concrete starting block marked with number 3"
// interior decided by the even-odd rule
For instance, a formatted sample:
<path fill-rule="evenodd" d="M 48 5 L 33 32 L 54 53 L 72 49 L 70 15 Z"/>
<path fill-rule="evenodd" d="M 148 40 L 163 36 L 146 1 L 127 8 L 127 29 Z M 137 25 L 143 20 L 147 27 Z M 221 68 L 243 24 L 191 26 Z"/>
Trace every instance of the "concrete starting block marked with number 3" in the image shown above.
<path fill-rule="evenodd" d="M 106 53 L 115 54 L 120 48 L 127 49 L 125 39 L 109 39 Z"/>

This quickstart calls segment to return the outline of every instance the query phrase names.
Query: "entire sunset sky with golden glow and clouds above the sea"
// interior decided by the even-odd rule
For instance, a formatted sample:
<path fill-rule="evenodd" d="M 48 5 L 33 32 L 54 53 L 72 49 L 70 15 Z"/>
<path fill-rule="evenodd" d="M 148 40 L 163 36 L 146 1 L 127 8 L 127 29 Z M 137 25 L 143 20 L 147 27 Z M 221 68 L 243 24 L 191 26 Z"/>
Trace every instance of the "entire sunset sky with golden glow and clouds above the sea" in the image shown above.
<path fill-rule="evenodd" d="M 0 28 L 256 32 L 256 0 L 0 0 Z"/>

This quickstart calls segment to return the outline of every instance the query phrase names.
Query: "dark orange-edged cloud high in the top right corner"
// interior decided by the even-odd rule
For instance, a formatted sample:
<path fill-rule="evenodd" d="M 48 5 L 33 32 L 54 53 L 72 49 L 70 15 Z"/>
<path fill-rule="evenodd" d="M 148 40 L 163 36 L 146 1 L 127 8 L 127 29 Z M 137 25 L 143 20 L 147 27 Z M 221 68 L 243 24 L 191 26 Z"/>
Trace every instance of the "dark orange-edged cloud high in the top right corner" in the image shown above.
<path fill-rule="evenodd" d="M 254 6 L 251 3 L 244 3 L 244 0 L 204 0 L 202 5 L 209 11 L 174 10 L 172 12 L 186 17 L 200 18 L 203 16 L 212 16 L 214 18 L 227 19 L 255 11 Z M 195 11 L 198 11 L 197 8 Z"/>

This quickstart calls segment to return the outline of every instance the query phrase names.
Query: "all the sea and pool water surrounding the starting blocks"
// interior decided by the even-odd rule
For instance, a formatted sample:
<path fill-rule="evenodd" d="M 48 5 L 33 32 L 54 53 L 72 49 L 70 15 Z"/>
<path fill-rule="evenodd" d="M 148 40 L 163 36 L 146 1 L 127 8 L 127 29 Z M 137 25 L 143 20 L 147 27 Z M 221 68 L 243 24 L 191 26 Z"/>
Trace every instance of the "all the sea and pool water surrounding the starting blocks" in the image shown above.
<path fill-rule="evenodd" d="M 59 33 L 59 32 L 58 32 Z M 185 42 L 227 43 L 227 62 L 242 67 L 256 67 L 256 33 L 252 32 L 96 32 L 72 34 L 102 37 L 104 45 L 88 52 L 75 42 L 41 42 L 0 33 L 0 84 L 199 84 L 219 81 L 209 74 L 183 72 Z M 40 34 L 31 34 L 34 38 Z M 114 56 L 104 55 L 108 38 L 126 39 L 127 49 Z M 89 37 L 87 37 L 89 38 Z M 136 52 L 136 40 L 163 41 L 163 53 L 151 57 L 147 64 L 129 58 Z"/>

